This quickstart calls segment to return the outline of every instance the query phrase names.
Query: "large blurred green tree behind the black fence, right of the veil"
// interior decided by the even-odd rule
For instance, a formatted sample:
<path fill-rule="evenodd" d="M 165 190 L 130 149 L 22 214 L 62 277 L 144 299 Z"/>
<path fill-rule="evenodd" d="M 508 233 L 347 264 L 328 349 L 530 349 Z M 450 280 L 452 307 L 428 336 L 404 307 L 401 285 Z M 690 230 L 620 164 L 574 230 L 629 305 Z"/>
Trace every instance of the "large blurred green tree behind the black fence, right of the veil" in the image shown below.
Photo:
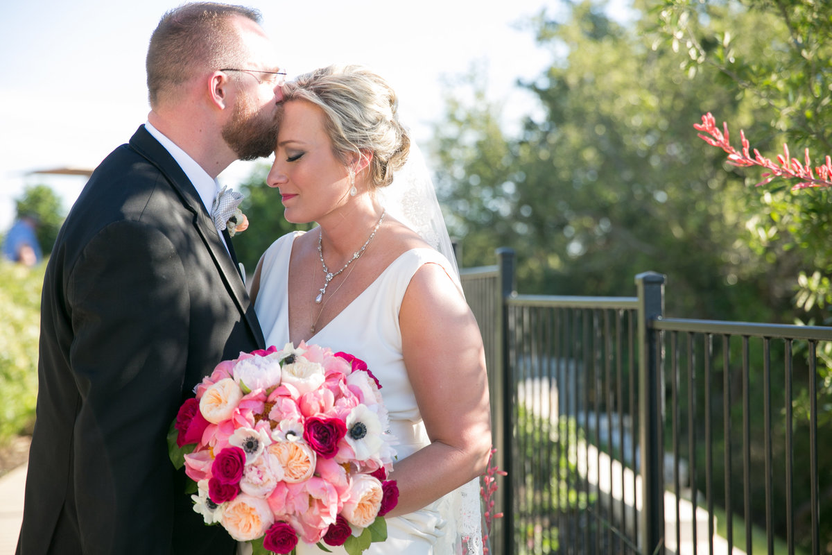
<path fill-rule="evenodd" d="M 463 260 L 489 263 L 494 246 L 513 246 L 523 290 L 558 294 L 622 295 L 636 273 L 656 270 L 668 275 L 669 312 L 768 319 L 767 307 L 788 302 L 742 240 L 743 186 L 715 166 L 716 153 L 691 147 L 704 109 L 734 115 L 740 99 L 680 71 L 651 25 L 623 26 L 592 2 L 565 21 L 540 14 L 537 40 L 557 57 L 525 83 L 543 115 L 517 137 L 499 131 L 500 107 L 483 102 L 482 83 L 448 93 L 437 150 Z M 478 102 L 465 109 L 463 95 Z"/>

